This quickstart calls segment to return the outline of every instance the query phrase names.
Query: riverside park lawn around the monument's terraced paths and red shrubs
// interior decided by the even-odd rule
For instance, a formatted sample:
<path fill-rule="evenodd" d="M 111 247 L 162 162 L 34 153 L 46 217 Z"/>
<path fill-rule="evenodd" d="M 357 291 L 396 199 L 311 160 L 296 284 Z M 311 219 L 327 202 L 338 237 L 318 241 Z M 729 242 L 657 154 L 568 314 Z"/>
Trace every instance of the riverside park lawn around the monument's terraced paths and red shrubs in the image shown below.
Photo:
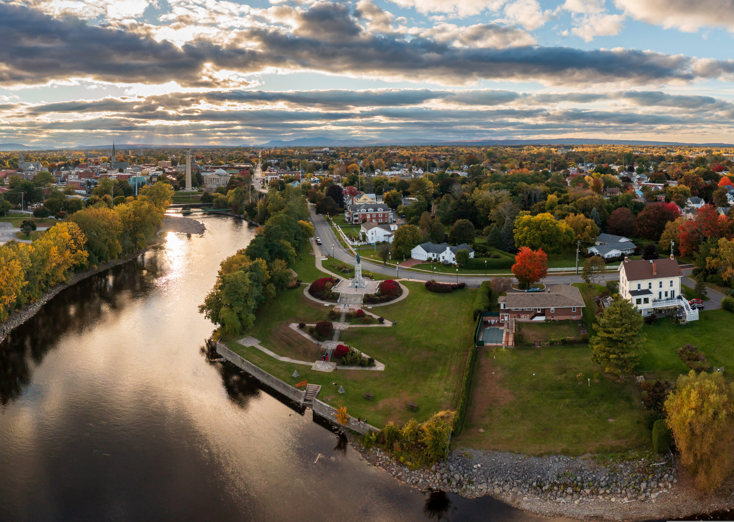
<path fill-rule="evenodd" d="M 432 294 L 421 283 L 404 284 L 410 290 L 407 299 L 373 310 L 379 310 L 385 319 L 396 320 L 397 326 L 353 328 L 340 337 L 389 364 L 385 371 L 311 371 L 309 366 L 283 363 L 235 340 L 227 345 L 286 383 L 308 380 L 320 384 L 323 388 L 319 399 L 332 405 L 342 402 L 352 416 L 366 417 L 376 427 L 383 427 L 390 420 L 402 423 L 411 417 L 424 421 L 439 410 L 457 406 L 473 341 L 471 306 L 476 290 Z M 286 355 L 286 350 L 306 355 L 309 348 L 302 345 L 297 333 L 285 328 L 286 322 L 316 322 L 324 319 L 329 309 L 307 300 L 302 290 L 286 291 L 258 309 L 255 327 L 241 337 L 258 338 L 264 347 L 279 355 Z M 421 320 L 416 321 L 417 317 Z M 291 377 L 294 370 L 298 370 L 297 379 Z M 339 385 L 344 386 L 345 394 L 338 394 Z M 372 401 L 364 399 L 366 392 L 375 395 Z M 407 408 L 411 401 L 418 404 L 418 410 Z"/>

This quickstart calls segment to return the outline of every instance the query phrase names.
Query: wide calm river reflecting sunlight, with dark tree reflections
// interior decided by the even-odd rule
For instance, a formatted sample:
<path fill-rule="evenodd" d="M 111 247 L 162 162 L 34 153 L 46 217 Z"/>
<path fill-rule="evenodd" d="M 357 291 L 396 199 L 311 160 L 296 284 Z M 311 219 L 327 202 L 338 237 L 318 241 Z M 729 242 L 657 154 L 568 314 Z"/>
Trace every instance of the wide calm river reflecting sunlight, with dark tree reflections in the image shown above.
<path fill-rule="evenodd" d="M 538 520 L 401 485 L 310 410 L 209 362 L 197 305 L 254 228 L 204 220 L 0 345 L 0 521 Z"/>

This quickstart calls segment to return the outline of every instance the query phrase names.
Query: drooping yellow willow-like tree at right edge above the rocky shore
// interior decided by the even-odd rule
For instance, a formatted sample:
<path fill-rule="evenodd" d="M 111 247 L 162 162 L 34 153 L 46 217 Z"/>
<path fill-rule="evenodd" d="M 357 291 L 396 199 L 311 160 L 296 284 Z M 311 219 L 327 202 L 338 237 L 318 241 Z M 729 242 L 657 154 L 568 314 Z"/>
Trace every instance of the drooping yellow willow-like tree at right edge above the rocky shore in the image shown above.
<path fill-rule="evenodd" d="M 734 471 L 734 383 L 715 371 L 680 375 L 665 401 L 666 424 L 696 487 L 711 491 Z"/>

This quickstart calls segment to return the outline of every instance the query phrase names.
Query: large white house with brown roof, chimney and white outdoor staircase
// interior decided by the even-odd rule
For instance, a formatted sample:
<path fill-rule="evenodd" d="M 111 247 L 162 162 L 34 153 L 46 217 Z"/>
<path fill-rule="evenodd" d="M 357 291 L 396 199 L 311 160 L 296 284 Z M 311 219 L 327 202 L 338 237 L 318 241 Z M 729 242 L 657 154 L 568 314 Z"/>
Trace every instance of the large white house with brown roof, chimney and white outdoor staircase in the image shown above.
<path fill-rule="evenodd" d="M 644 316 L 656 310 L 682 307 L 686 320 L 698 319 L 683 297 L 680 280 L 683 271 L 672 256 L 662 259 L 638 259 L 619 264 L 619 295 L 630 300 Z"/>

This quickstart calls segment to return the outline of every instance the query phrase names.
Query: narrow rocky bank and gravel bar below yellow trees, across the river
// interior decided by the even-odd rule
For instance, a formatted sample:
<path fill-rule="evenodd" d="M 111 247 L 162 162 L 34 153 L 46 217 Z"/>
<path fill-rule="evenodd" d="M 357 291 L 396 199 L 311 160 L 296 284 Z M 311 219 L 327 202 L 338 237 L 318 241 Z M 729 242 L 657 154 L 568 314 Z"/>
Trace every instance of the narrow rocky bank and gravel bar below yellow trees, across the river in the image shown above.
<path fill-rule="evenodd" d="M 205 230 L 206 227 L 203 225 L 203 223 L 198 222 L 197 220 L 192 220 L 189 217 L 167 216 L 164 218 L 163 224 L 161 225 L 158 233 L 204 233 Z M 156 247 L 163 242 L 164 239 L 158 239 L 156 240 L 156 242 L 148 244 L 148 247 L 142 248 L 140 250 L 135 250 L 134 252 L 128 253 L 126 255 L 122 255 L 117 259 L 113 259 L 112 261 L 107 261 L 106 263 L 99 265 L 95 269 L 86 270 L 84 272 L 76 272 L 73 277 L 66 283 L 60 283 L 53 288 L 43 292 L 43 295 L 41 295 L 39 300 L 32 302 L 31 304 L 26 305 L 19 310 L 13 311 L 13 313 L 10 314 L 10 317 L 8 317 L 4 323 L 0 324 L 0 342 L 4 341 L 5 337 L 15 327 L 22 325 L 24 322 L 34 316 L 35 313 L 39 311 L 43 305 L 56 297 L 60 291 L 68 289 L 70 286 L 79 283 L 79 281 L 92 277 L 92 275 L 98 274 L 99 272 L 103 272 L 104 270 L 112 267 L 117 267 L 118 264 L 123 264 L 130 261 L 131 259 L 137 258 L 138 255 L 145 253 L 148 249 Z"/>

